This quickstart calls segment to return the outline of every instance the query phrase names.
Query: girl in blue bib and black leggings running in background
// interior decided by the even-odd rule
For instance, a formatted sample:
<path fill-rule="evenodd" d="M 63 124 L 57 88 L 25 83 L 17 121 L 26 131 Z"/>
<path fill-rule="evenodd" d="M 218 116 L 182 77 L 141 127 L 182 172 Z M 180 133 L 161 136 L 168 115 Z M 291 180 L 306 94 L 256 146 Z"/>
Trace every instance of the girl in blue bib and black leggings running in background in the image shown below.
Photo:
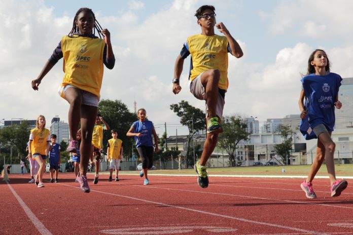
<path fill-rule="evenodd" d="M 134 122 L 126 136 L 135 137 L 136 148 L 140 158 L 142 159 L 142 171 L 140 177 L 145 175 L 144 185 L 149 184 L 147 171 L 153 166 L 153 151 L 158 152 L 158 136 L 154 129 L 153 123 L 146 120 L 146 110 L 140 108 L 137 111 L 138 121 Z M 153 140 L 155 141 L 155 149 L 153 149 Z"/>

